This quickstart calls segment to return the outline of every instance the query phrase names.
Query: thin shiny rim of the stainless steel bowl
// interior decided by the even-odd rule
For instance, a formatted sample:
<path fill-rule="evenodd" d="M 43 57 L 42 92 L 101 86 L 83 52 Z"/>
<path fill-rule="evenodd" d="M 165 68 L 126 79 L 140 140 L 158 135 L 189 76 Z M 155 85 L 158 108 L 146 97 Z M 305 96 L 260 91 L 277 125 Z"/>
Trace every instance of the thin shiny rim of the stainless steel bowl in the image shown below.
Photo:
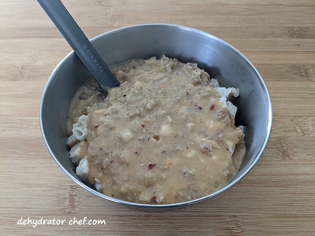
<path fill-rule="evenodd" d="M 52 74 L 50 75 L 46 85 L 45 85 L 45 88 L 44 88 L 44 91 L 43 91 L 43 94 L 42 94 L 42 99 L 41 99 L 41 103 L 40 103 L 40 109 L 39 109 L 39 117 L 40 117 L 40 127 L 41 127 L 41 132 L 42 132 L 42 136 L 43 136 L 43 139 L 44 139 L 44 142 L 47 146 L 47 149 L 50 153 L 50 155 L 54 158 L 55 162 L 57 163 L 57 165 L 66 173 L 67 176 L 69 176 L 74 182 L 76 182 L 78 185 L 80 185 L 81 187 L 87 189 L 88 191 L 90 191 L 91 193 L 93 194 L 96 194 L 102 198 L 105 198 L 107 200 L 110 200 L 110 201 L 113 201 L 113 202 L 116 202 L 116 203 L 120 203 L 120 204 L 125 204 L 125 205 L 130 205 L 130 206 L 137 206 L 137 207 L 145 207 L 145 208 L 167 208 L 167 207 L 177 207 L 177 206 L 183 206 L 183 205 L 191 205 L 191 204 L 195 204 L 195 203 L 198 203 L 198 202 L 201 202 L 203 200 L 206 200 L 206 199 L 209 199 L 211 197 L 214 197 L 220 193 L 222 193 L 223 191 L 225 191 L 226 189 L 228 188 L 231 188 L 234 184 L 238 183 L 238 181 L 240 181 L 252 168 L 253 166 L 257 163 L 257 161 L 260 159 L 264 149 L 266 148 L 266 145 L 268 143 L 268 140 L 269 140 L 269 137 L 270 137 L 270 133 L 271 133 L 271 128 L 272 128 L 272 105 L 271 105 L 271 99 L 270 99 L 270 96 L 269 96 L 269 93 L 268 93 L 268 90 L 267 90 L 267 87 L 266 87 L 266 84 L 265 82 L 263 81 L 261 75 L 259 74 L 259 72 L 257 71 L 257 69 L 255 68 L 255 66 L 242 54 L 240 53 L 236 48 L 234 48 L 232 45 L 228 44 L 227 42 L 223 41 L 222 39 L 218 38 L 218 37 L 215 37 L 209 33 L 206 33 L 206 32 L 203 32 L 203 31 L 200 31 L 200 30 L 197 30 L 197 29 L 193 29 L 193 28 L 189 28 L 189 27 L 186 27 L 186 26 L 180 26 L 180 25 L 170 25 L 170 24 L 143 24 L 143 25 L 132 25 L 132 26 L 127 26 L 127 27 L 123 27 L 123 28 L 119 28 L 119 29 L 115 29 L 115 30 L 112 30 L 112 31 L 108 31 L 106 33 L 103 33 L 103 34 L 100 34 L 94 38 L 92 38 L 90 41 L 93 42 L 101 37 L 106 37 L 107 35 L 110 35 L 110 34 L 113 34 L 113 33 L 116 33 L 116 32 L 119 32 L 119 31 L 124 31 L 126 29 L 129 29 L 129 28 L 135 28 L 135 27 L 147 27 L 147 26 L 153 26 L 153 27 L 156 27 L 156 26 L 162 26 L 162 27 L 169 27 L 169 28 L 176 28 L 176 29 L 180 29 L 180 30 L 187 30 L 187 31 L 192 31 L 194 33 L 197 33 L 197 34 L 202 34 L 203 36 L 206 36 L 206 37 L 209 37 L 211 39 L 214 39 L 215 41 L 225 45 L 226 47 L 230 48 L 232 51 L 234 51 L 235 53 L 237 53 L 241 58 L 243 58 L 248 64 L 249 66 L 254 70 L 256 76 L 258 77 L 258 80 L 261 84 L 261 87 L 263 89 L 263 91 L 265 92 L 265 96 L 267 97 L 267 102 L 268 102 L 268 125 L 267 125 L 267 133 L 266 133 L 266 136 L 264 138 L 264 142 L 262 143 L 261 145 L 261 148 L 258 152 L 258 154 L 256 155 L 255 159 L 253 160 L 253 162 L 244 170 L 244 172 L 238 177 L 236 178 L 235 180 L 233 180 L 231 183 L 229 183 L 228 185 L 226 185 L 224 188 L 221 188 L 219 190 L 217 190 L 216 192 L 212 193 L 212 194 L 209 194 L 207 196 L 204 196 L 204 197 L 201 197 L 201 198 L 198 198 L 198 199 L 193 199 L 193 200 L 190 200 L 190 201 L 186 201 L 186 202 L 179 202 L 179 203 L 173 203 L 173 204 L 160 204 L 160 205 L 153 205 L 153 204 L 141 204 L 141 203 L 133 203 L 133 202 L 127 202 L 127 201 L 123 201 L 123 200 L 120 200 L 120 199 L 116 199 L 116 198 L 112 198 L 110 196 L 107 196 L 105 194 L 102 194 L 98 191 L 96 191 L 95 189 L 93 188 L 90 188 L 89 186 L 87 186 L 86 184 L 84 183 L 81 183 L 80 181 L 78 181 L 76 178 L 74 178 L 72 176 L 72 174 L 67 171 L 61 164 L 60 162 L 58 161 L 58 159 L 56 158 L 56 156 L 54 155 L 53 151 L 50 149 L 50 146 L 49 146 L 49 143 L 47 142 L 47 139 L 46 139 L 46 136 L 45 136 L 45 131 L 43 129 L 43 102 L 45 101 L 45 97 L 46 97 L 46 94 L 47 94 L 47 91 L 48 91 L 48 88 L 49 88 L 49 85 L 51 83 L 51 81 L 54 79 L 54 75 L 56 74 L 58 68 L 60 67 L 61 64 L 63 64 L 70 56 L 72 56 L 72 54 L 74 54 L 73 51 L 71 51 L 70 53 L 68 53 L 64 59 L 62 59 L 58 65 L 54 68 Z"/>

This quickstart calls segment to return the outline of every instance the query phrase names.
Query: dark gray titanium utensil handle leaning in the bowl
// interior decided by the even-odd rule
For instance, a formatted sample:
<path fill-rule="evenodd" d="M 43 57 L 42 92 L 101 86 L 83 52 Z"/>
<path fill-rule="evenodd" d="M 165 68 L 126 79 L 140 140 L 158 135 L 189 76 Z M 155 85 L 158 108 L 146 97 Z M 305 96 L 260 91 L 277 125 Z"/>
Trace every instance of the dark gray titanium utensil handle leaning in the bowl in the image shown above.
<path fill-rule="evenodd" d="M 82 60 L 107 94 L 107 87 L 118 87 L 117 78 L 85 36 L 60 0 L 37 0 L 73 51 Z"/>

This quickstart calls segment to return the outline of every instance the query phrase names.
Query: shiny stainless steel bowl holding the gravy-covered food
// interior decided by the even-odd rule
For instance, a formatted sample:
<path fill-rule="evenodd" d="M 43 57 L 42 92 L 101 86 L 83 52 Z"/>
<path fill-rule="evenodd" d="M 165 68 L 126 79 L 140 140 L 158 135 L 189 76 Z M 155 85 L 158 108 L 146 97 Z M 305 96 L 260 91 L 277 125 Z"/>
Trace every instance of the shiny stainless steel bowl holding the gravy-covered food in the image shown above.
<path fill-rule="evenodd" d="M 54 69 L 43 92 L 40 123 L 47 148 L 60 168 L 90 192 L 139 211 L 172 211 L 209 199 L 233 186 L 259 160 L 269 139 L 272 107 L 264 81 L 255 67 L 228 43 L 202 31 L 177 25 L 135 25 L 107 32 L 91 40 L 109 65 L 129 59 L 157 58 L 163 54 L 182 62 L 197 62 L 222 86 L 239 88 L 233 101 L 238 107 L 236 125 L 244 125 L 247 146 L 238 174 L 215 193 L 187 202 L 146 205 L 122 201 L 90 188 L 75 174 L 66 145 L 69 103 L 78 87 L 90 77 L 89 71 L 71 52 Z M 106 187 L 106 186 L 105 186 Z"/>

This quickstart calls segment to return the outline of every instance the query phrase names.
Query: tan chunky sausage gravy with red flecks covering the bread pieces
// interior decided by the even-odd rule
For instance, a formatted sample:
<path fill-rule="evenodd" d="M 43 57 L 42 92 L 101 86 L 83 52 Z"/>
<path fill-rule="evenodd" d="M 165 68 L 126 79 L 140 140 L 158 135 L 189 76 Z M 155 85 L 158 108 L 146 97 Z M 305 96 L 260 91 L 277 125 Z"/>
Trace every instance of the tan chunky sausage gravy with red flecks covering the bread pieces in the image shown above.
<path fill-rule="evenodd" d="M 91 184 L 96 178 L 100 191 L 117 199 L 169 204 L 211 194 L 236 175 L 243 130 L 197 64 L 153 57 L 111 70 L 120 87 L 105 98 L 91 79 L 69 109 L 69 135 L 89 115 Z"/>

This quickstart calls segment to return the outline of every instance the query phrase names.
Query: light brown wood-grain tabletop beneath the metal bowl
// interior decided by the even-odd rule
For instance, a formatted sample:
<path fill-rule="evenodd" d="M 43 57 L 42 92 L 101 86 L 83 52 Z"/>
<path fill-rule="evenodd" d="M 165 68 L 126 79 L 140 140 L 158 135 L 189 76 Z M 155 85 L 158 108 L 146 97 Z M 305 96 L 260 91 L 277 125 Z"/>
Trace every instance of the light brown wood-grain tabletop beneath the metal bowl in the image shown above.
<path fill-rule="evenodd" d="M 0 1 L 0 235 L 315 235 L 315 2 L 64 0 L 89 38 L 127 25 L 203 30 L 238 48 L 269 89 L 273 128 L 261 160 L 219 196 L 176 212 L 141 213 L 78 187 L 49 155 L 39 104 L 71 50 L 36 1 Z M 31 219 L 106 225 L 17 225 Z"/>

